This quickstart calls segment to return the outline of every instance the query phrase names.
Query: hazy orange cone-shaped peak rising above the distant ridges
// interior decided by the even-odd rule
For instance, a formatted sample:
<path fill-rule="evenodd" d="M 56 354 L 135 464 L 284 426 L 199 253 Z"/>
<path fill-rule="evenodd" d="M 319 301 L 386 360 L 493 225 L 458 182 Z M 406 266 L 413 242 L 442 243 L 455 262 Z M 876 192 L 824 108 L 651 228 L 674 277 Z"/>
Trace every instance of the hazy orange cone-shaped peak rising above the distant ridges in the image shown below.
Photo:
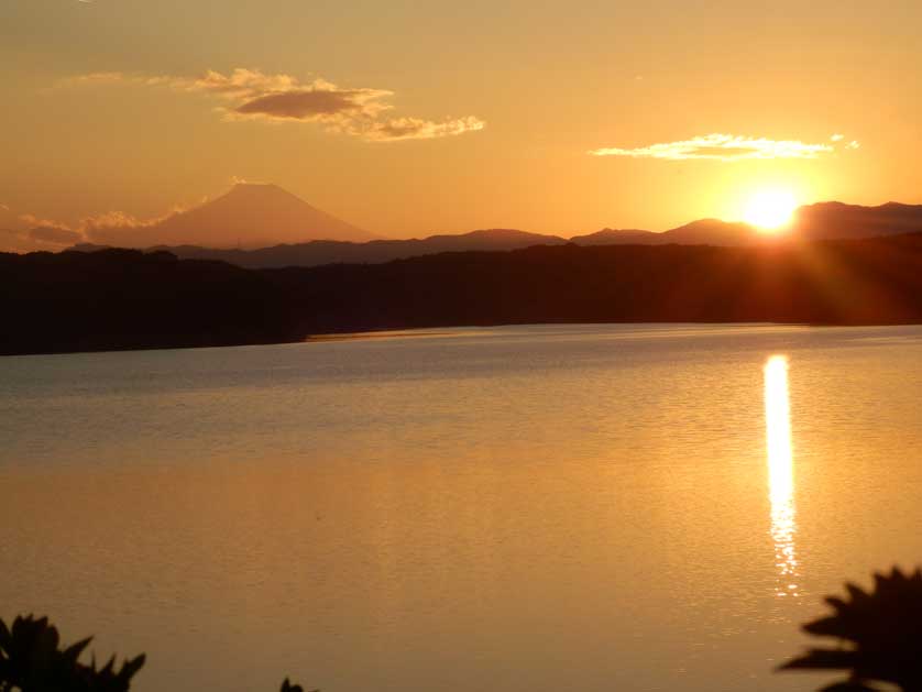
<path fill-rule="evenodd" d="M 321 211 L 276 185 L 235 185 L 228 194 L 160 221 L 91 227 L 94 243 L 119 248 L 266 248 L 310 240 L 369 241 L 373 233 Z"/>

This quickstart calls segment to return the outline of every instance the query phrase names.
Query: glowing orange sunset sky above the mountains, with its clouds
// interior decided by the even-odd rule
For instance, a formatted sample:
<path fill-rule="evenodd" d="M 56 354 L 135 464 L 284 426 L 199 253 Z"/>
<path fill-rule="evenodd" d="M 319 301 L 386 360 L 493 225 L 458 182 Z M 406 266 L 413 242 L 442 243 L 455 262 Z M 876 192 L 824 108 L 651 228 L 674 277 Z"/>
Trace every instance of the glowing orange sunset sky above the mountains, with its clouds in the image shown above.
<path fill-rule="evenodd" d="M 920 202 L 920 26 L 918 0 L 3 0 L 0 228 L 234 180 L 393 238 Z"/>

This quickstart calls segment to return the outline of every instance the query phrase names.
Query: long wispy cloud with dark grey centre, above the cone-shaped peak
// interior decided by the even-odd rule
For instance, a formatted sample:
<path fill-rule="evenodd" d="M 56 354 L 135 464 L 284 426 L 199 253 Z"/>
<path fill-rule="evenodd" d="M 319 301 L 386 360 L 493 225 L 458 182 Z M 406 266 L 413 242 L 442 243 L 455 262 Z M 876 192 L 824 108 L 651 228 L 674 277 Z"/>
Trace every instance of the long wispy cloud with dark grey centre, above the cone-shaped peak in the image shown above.
<path fill-rule="evenodd" d="M 92 85 L 167 86 L 185 92 L 207 94 L 224 101 L 219 111 L 226 120 L 320 123 L 332 132 L 372 142 L 431 140 L 475 132 L 485 122 L 474 116 L 426 120 L 387 118 L 394 109 L 394 92 L 367 87 L 343 88 L 326 79 L 300 81 L 286 74 L 265 74 L 238 68 L 230 74 L 208 70 L 200 77 L 145 76 L 124 73 L 94 73 L 68 77 L 58 87 Z"/>

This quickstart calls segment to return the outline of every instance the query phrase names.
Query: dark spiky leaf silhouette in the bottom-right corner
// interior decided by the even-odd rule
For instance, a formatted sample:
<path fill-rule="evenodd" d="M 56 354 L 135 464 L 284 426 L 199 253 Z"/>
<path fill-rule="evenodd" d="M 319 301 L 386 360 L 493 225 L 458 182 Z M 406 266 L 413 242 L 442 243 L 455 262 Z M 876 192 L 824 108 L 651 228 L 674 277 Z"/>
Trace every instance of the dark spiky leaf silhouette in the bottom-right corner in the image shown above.
<path fill-rule="evenodd" d="M 877 692 L 880 682 L 922 691 L 922 572 L 893 568 L 874 581 L 869 592 L 846 584 L 846 597 L 826 597 L 831 615 L 803 626 L 811 635 L 843 640 L 845 648 L 810 649 L 781 668 L 848 671 L 847 680 L 823 692 Z"/>

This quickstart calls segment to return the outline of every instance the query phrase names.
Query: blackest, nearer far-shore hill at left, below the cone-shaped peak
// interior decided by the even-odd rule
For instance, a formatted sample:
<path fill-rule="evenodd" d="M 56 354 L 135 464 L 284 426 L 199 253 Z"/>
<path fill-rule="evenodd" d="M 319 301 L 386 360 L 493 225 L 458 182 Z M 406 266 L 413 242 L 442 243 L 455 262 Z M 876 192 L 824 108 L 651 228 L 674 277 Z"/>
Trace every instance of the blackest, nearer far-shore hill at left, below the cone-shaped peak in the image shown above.
<path fill-rule="evenodd" d="M 166 252 L 0 254 L 0 353 L 289 341 L 270 277 Z"/>

